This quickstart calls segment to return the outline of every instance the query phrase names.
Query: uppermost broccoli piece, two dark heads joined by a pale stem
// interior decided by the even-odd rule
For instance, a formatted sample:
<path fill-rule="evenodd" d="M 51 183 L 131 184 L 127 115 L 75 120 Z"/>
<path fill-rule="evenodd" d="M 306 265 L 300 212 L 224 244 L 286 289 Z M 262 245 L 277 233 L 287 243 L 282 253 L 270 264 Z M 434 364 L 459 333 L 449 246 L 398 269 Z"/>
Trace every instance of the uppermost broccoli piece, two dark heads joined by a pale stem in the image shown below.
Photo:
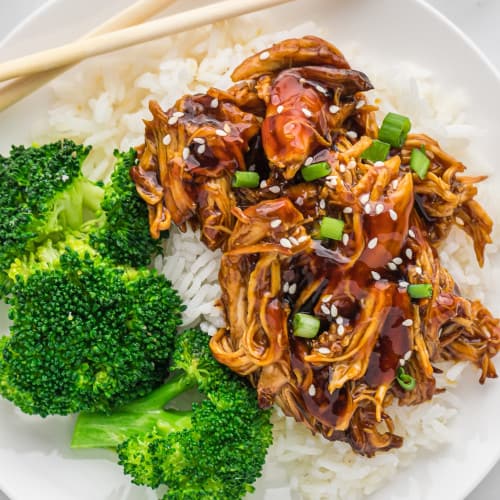
<path fill-rule="evenodd" d="M 147 206 L 129 176 L 136 152 L 115 153 L 111 182 L 82 173 L 89 147 L 64 140 L 41 147 L 14 146 L 0 156 L 0 297 L 12 284 L 15 259 L 32 260 L 40 245 L 84 232 L 103 257 L 147 265 L 161 251 L 148 231 Z"/>

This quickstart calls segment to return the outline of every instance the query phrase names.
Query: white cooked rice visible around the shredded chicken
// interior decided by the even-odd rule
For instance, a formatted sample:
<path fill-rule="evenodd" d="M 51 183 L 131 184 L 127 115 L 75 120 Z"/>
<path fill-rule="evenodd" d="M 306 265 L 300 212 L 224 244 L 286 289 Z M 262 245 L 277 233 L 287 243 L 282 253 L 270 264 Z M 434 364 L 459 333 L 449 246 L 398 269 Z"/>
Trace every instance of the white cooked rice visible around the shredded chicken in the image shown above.
<path fill-rule="evenodd" d="M 48 127 L 38 134 L 38 141 L 68 137 L 91 144 L 93 151 L 85 168 L 95 178 L 106 178 L 113 149 L 142 142 L 142 120 L 149 117 L 150 100 L 167 108 L 185 93 L 203 92 L 210 86 L 226 88 L 231 83 L 231 68 L 251 53 L 286 37 L 321 35 L 312 24 L 263 35 L 256 19 L 261 18 L 222 23 L 218 29 L 200 29 L 81 64 L 53 84 L 55 103 L 49 112 Z M 414 130 L 426 131 L 467 163 L 468 141 L 481 131 L 467 123 L 465 96 L 444 92 L 425 68 L 402 64 L 387 71 L 382 64 L 374 67 L 363 61 L 362 51 L 355 47 L 345 52 L 354 67 L 370 75 L 378 89 L 376 96 L 371 93 L 370 100 L 381 99 L 381 114 L 392 109 L 408 114 Z M 489 189 L 483 188 L 482 200 L 492 209 L 490 200 L 494 196 Z M 494 238 L 498 241 L 498 235 Z M 496 247 L 489 247 L 488 252 L 495 251 Z M 166 258 L 154 263 L 187 304 L 185 325 L 201 324 L 209 334 L 223 325 L 215 305 L 220 293 L 220 255 L 219 251 L 207 250 L 197 233 L 173 229 L 166 244 Z M 453 233 L 441 257 L 470 297 L 484 299 L 481 284 L 487 275 L 490 279 L 493 276 L 494 282 L 500 281 L 495 275 L 500 271 L 492 269 L 488 257 L 483 270 L 479 270 L 472 246 L 461 233 Z M 446 372 L 448 378 L 443 376 L 439 385 L 451 387 L 462 369 L 463 364 L 451 367 Z M 412 463 L 422 450 L 435 449 L 448 440 L 447 425 L 456 407 L 457 400 L 449 390 L 432 403 L 391 409 L 397 430 L 405 439 L 404 446 L 372 459 L 356 455 L 344 443 L 312 436 L 277 410 L 273 417 L 275 443 L 264 477 L 258 483 L 257 496 L 352 500 L 369 495 L 399 467 Z"/>

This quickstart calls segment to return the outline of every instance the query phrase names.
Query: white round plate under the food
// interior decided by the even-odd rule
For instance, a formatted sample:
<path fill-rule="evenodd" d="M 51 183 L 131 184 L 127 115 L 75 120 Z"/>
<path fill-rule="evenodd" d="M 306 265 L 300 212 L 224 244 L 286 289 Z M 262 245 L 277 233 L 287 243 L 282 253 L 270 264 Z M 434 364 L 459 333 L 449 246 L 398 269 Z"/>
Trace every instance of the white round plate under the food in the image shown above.
<path fill-rule="evenodd" d="M 11 34 L 0 47 L 2 58 L 72 40 L 129 3 L 53 0 Z M 206 2 L 177 3 L 187 8 Z M 496 161 L 500 78 L 464 36 L 426 4 L 417 0 L 301 0 L 269 15 L 279 29 L 311 19 L 341 49 L 355 41 L 374 60 L 414 61 L 433 71 L 442 85 L 463 88 L 472 100 L 469 121 L 486 131 L 474 140 L 485 152 L 481 161 L 486 165 Z M 12 143 L 29 143 L 30 130 L 46 106 L 47 92 L 42 90 L 1 113 L 0 152 L 5 153 Z M 488 182 L 500 180 L 494 176 Z M 487 293 L 492 303 L 492 294 L 498 292 Z M 500 307 L 494 312 L 498 315 Z M 5 330 L 5 318 L 1 327 Z M 476 379 L 477 373 L 461 390 L 465 404 L 453 422 L 458 439 L 437 453 L 422 454 L 374 498 L 459 500 L 483 478 L 500 458 L 500 383 L 489 381 L 479 387 Z M 154 498 L 150 490 L 129 484 L 111 453 L 71 450 L 71 418 L 22 416 L 6 401 L 0 401 L 0 416 L 0 490 L 12 500 Z"/>

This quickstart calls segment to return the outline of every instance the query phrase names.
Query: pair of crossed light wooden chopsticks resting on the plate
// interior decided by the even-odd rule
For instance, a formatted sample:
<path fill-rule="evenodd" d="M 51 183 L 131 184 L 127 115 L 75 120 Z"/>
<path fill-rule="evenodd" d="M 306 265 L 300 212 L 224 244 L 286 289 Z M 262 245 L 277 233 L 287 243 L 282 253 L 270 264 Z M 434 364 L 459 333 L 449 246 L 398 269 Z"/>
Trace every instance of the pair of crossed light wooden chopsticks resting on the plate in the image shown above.
<path fill-rule="evenodd" d="M 81 40 L 0 63 L 0 82 L 16 78 L 0 88 L 0 111 L 34 92 L 83 59 L 289 1 L 291 0 L 224 0 L 144 22 L 164 10 L 174 0 L 139 0 Z"/>

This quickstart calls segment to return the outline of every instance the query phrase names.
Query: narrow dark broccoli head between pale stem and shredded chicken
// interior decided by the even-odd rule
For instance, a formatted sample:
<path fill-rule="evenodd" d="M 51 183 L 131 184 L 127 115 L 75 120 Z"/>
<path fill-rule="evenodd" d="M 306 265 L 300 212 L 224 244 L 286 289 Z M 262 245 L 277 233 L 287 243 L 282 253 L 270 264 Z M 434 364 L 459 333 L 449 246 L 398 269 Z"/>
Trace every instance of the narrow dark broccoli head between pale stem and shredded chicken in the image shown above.
<path fill-rule="evenodd" d="M 120 153 L 115 151 L 116 164 L 111 182 L 105 186 L 101 214 L 92 221 L 90 243 L 101 255 L 119 264 L 146 266 L 152 255 L 162 251 L 160 240 L 149 233 L 148 208 L 137 194 L 130 169 L 134 166 L 137 153 L 134 149 Z M 168 236 L 167 232 L 161 237 Z"/>

